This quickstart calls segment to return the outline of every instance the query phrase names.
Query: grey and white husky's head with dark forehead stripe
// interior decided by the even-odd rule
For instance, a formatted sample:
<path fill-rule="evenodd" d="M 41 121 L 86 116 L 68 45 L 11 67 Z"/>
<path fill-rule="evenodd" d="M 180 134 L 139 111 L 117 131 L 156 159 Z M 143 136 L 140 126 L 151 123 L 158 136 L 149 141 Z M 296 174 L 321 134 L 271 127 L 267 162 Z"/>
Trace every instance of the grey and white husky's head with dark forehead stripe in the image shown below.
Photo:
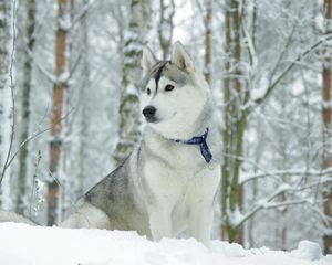
<path fill-rule="evenodd" d="M 170 61 L 143 51 L 141 108 L 147 125 L 167 138 L 189 137 L 208 115 L 210 91 L 185 47 L 176 42 Z"/>

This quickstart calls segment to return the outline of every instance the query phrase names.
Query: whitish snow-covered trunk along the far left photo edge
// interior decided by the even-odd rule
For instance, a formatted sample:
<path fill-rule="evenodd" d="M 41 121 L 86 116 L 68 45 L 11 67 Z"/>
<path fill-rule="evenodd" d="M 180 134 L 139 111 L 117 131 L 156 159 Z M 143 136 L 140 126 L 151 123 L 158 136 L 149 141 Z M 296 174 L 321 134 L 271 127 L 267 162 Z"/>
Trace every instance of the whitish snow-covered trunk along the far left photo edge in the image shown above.
<path fill-rule="evenodd" d="M 10 171 L 6 161 L 12 134 L 11 56 L 13 52 L 12 1 L 0 0 L 0 205 L 11 208 Z"/>

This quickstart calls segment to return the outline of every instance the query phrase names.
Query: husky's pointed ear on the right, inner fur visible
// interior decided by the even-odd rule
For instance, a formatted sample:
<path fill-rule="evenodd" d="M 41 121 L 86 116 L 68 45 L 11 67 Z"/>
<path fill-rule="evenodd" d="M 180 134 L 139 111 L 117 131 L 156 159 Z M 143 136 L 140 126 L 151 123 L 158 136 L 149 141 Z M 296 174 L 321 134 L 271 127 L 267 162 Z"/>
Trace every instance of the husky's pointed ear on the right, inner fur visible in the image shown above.
<path fill-rule="evenodd" d="M 173 45 L 170 62 L 184 71 L 195 71 L 193 59 L 179 41 L 175 42 Z"/>

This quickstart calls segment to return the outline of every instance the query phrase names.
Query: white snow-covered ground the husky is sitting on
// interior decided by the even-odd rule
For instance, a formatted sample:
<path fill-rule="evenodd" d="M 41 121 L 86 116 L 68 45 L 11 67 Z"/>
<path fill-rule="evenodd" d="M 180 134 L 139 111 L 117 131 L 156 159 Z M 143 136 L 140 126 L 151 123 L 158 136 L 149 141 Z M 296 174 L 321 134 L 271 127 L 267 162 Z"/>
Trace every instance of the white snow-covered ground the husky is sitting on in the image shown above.
<path fill-rule="evenodd" d="M 243 250 L 214 241 L 206 248 L 197 241 L 164 239 L 159 243 L 135 232 L 69 230 L 0 224 L 1 265 L 332 265 L 318 244 L 302 241 L 292 252 Z"/>

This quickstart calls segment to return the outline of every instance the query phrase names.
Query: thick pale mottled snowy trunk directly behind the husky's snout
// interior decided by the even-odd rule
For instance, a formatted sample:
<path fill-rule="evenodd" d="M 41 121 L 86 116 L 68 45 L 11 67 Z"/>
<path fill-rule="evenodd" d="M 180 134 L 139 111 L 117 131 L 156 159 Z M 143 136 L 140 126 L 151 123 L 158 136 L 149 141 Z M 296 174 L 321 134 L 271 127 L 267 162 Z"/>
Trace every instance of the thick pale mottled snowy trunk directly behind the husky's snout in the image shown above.
<path fill-rule="evenodd" d="M 129 156 L 141 135 L 138 84 L 142 51 L 149 30 L 151 2 L 149 0 L 131 0 L 129 8 L 129 24 L 124 36 L 123 50 L 118 141 L 113 155 L 116 165 Z"/>

